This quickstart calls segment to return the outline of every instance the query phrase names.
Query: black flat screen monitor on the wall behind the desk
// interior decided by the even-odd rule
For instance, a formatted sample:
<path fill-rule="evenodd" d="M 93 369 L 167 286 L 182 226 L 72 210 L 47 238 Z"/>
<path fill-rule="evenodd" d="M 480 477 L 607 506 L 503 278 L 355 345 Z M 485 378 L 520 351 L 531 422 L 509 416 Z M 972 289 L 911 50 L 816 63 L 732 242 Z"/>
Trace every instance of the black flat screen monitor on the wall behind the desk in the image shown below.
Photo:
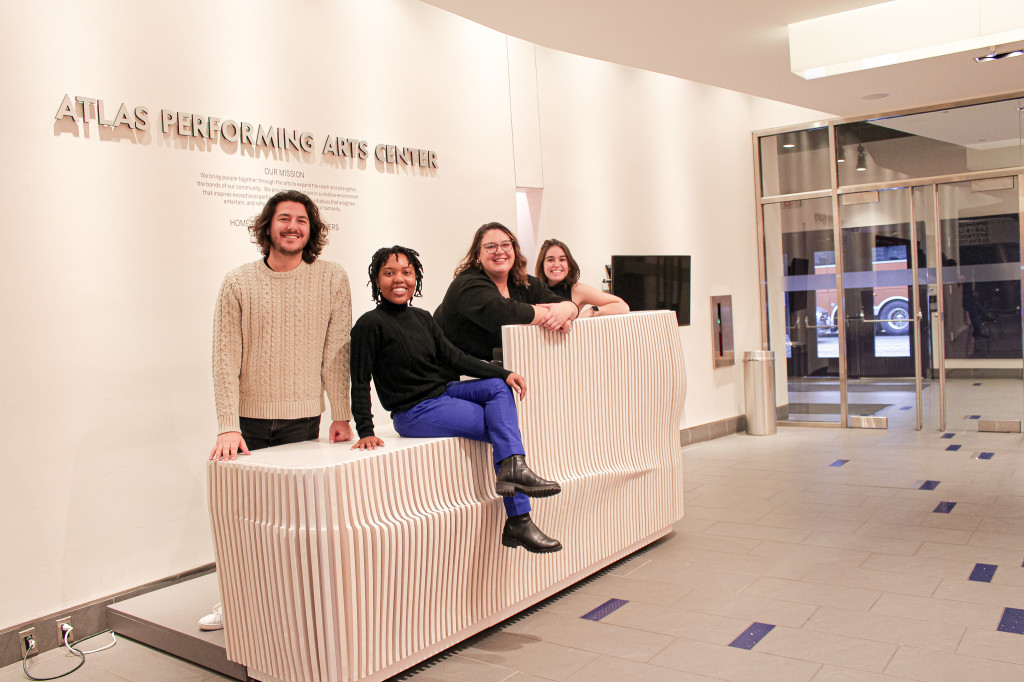
<path fill-rule="evenodd" d="M 630 310 L 675 310 L 690 324 L 689 256 L 612 256 L 611 293 Z"/>

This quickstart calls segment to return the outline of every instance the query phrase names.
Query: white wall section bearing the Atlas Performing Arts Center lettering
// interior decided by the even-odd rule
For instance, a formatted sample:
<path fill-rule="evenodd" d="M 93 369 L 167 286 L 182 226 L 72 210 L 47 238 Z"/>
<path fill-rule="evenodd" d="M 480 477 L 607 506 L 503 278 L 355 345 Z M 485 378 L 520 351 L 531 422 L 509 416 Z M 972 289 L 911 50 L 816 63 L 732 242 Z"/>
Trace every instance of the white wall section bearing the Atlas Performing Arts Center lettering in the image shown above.
<path fill-rule="evenodd" d="M 355 187 L 326 213 L 341 229 L 324 256 L 356 313 L 376 248 L 421 251 L 432 308 L 472 230 L 515 217 L 500 34 L 410 0 L 59 4 L 0 14 L 0 629 L 213 559 L 210 326 L 224 273 L 257 256 L 229 220 L 258 207 L 202 196 L 200 173 Z M 147 104 L 148 134 L 58 123 L 65 94 L 108 116 Z M 196 144 L 161 133 L 162 108 L 308 130 L 316 150 Z M 439 168 L 337 168 L 329 133 L 435 151 Z"/>

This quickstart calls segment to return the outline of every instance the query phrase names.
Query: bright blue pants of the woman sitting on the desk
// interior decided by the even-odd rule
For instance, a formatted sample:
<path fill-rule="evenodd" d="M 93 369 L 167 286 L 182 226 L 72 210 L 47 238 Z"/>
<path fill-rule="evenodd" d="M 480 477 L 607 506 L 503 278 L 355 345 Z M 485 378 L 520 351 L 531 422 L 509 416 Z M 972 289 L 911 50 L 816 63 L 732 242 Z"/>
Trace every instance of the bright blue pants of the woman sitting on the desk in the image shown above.
<path fill-rule="evenodd" d="M 392 415 L 395 430 L 409 438 L 461 436 L 489 442 L 495 471 L 502 460 L 523 455 L 522 436 L 512 390 L 501 379 L 453 381 L 441 395 Z M 522 493 L 502 498 L 509 516 L 529 511 Z"/>

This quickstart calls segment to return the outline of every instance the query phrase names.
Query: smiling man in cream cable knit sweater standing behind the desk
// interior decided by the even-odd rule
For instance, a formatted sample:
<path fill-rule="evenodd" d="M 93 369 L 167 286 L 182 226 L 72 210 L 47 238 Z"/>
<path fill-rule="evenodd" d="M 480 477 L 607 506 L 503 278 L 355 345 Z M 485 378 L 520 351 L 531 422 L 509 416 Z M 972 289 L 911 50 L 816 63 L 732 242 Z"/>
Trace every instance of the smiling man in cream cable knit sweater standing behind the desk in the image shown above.
<path fill-rule="evenodd" d="M 282 191 L 250 227 L 263 259 L 224 278 L 213 318 L 217 442 L 211 460 L 319 436 L 324 391 L 331 442 L 352 439 L 348 275 L 317 260 L 328 227 L 300 191 Z M 220 604 L 200 620 L 223 627 Z"/>

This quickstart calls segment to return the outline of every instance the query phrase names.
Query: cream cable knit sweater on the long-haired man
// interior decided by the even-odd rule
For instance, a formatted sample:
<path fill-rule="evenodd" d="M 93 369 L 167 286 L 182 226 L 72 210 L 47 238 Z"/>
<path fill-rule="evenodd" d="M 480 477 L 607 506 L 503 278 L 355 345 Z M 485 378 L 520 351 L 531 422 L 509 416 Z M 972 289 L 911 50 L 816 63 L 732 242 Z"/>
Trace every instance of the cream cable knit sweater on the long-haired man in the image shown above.
<path fill-rule="evenodd" d="M 347 421 L 352 301 L 337 263 L 274 272 L 257 260 L 224 278 L 213 317 L 218 433 L 239 417 L 300 419 L 325 410 Z"/>

